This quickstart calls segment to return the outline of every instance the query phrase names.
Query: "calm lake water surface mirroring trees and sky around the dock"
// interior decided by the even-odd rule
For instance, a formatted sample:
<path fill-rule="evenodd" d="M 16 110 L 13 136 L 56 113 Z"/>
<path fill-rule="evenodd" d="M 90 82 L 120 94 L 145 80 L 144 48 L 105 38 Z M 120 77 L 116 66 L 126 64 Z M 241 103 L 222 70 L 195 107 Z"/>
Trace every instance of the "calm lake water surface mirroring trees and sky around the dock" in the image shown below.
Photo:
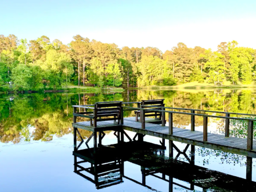
<path fill-rule="evenodd" d="M 102 176 L 97 189 L 88 179 L 74 173 L 73 108 L 74 104 L 99 101 L 133 102 L 164 98 L 165 106 L 235 113 L 256 114 L 256 90 L 187 90 L 122 93 L 48 93 L 0 95 L 0 191 L 254 191 L 246 189 L 245 156 L 224 153 L 174 142 L 174 161 L 166 150 L 135 151 L 124 161 L 123 174 Z M 131 105 L 132 106 L 132 105 Z M 136 105 L 133 105 L 136 106 Z M 215 114 L 216 115 L 216 114 Z M 125 117 L 135 116 L 126 111 Z M 252 117 L 255 118 L 255 117 Z M 168 118 L 166 119 L 168 121 Z M 230 121 L 230 136 L 246 137 L 242 122 Z M 174 115 L 174 126 L 190 129 L 190 116 Z M 225 134 L 225 122 L 209 118 L 208 132 Z M 196 130 L 203 131 L 203 118 L 196 116 Z M 254 126 L 256 127 L 256 126 Z M 84 141 L 91 133 L 80 131 Z M 105 132 L 103 145 L 117 143 L 114 132 Z M 127 134 L 133 138 L 135 133 Z M 254 138 L 256 134 L 254 132 Z M 79 139 L 78 143 L 79 143 Z M 159 144 L 159 138 L 145 136 L 144 141 Z M 91 140 L 88 145 L 93 147 Z M 82 144 L 80 148 L 86 148 Z M 142 155 L 143 154 L 143 155 Z M 142 156 L 141 156 L 142 155 Z M 191 167 L 190 159 L 194 158 Z M 252 181 L 256 181 L 252 160 Z M 143 166 L 142 166 L 143 164 Z M 82 163 L 85 169 L 91 164 Z M 89 178 L 94 177 L 82 172 Z M 221 180 L 219 182 L 218 180 Z M 226 183 L 225 185 L 223 185 Z M 255 185 L 255 184 L 254 184 Z M 235 186 L 235 187 L 234 187 Z M 244 189 L 244 190 L 243 190 Z"/>

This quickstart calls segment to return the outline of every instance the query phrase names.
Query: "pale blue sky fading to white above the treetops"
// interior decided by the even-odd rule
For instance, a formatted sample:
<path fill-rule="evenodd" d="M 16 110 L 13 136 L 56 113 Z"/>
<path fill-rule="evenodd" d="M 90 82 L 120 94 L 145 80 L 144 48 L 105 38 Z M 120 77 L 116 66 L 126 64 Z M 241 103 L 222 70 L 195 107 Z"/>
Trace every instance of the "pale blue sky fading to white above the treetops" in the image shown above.
<path fill-rule="evenodd" d="M 19 39 L 46 35 L 68 44 L 80 34 L 163 52 L 178 42 L 216 50 L 220 42 L 237 40 L 256 49 L 255 0 L 0 0 L 0 7 L 0 34 Z"/>

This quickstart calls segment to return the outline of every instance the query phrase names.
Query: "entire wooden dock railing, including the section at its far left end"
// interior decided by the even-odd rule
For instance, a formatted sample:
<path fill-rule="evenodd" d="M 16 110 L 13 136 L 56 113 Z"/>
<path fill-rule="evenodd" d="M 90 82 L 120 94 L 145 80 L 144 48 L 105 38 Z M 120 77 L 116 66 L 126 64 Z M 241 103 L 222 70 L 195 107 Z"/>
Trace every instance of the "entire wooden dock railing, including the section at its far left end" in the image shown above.
<path fill-rule="evenodd" d="M 121 101 L 110 101 L 111 102 L 121 102 Z M 101 103 L 101 102 L 98 102 Z M 103 102 L 102 102 L 103 103 Z M 183 109 L 183 108 L 170 108 L 167 106 L 157 106 L 157 108 L 161 108 L 162 110 L 154 109 L 156 106 L 154 105 L 141 105 L 141 102 L 122 102 L 122 104 L 137 104 L 137 108 L 133 106 L 121 106 L 121 118 L 120 124 L 123 124 L 123 111 L 140 111 L 140 118 L 141 118 L 141 129 L 145 129 L 145 112 L 152 111 L 152 112 L 160 112 L 162 113 L 162 117 L 165 117 L 165 114 L 168 113 L 169 117 L 169 134 L 173 135 L 173 115 L 174 114 L 181 114 L 181 115 L 190 115 L 191 116 L 191 131 L 195 131 L 195 116 L 203 117 L 203 141 L 207 142 L 207 134 L 208 134 L 208 118 L 220 118 L 225 119 L 225 137 L 229 137 L 229 125 L 230 119 L 233 120 L 243 120 L 247 121 L 247 150 L 252 150 L 253 148 L 253 122 L 256 119 L 251 118 L 241 118 L 241 117 L 230 117 L 230 115 L 243 115 L 243 116 L 256 116 L 255 114 L 244 114 L 244 113 L 232 113 L 232 112 L 220 112 L 220 111 L 207 111 L 207 110 L 196 110 L 196 109 Z M 85 117 L 93 119 L 94 117 L 91 114 L 95 113 L 95 104 L 89 105 L 74 105 L 74 112 L 73 112 L 73 122 L 76 123 L 77 117 Z M 92 112 L 79 112 L 77 113 L 77 108 L 84 108 L 84 109 L 91 109 Z M 187 112 L 178 112 L 178 111 L 168 111 L 168 110 L 184 110 L 190 111 Z M 225 116 L 218 116 L 218 115 L 206 115 L 206 114 L 199 114 L 196 112 L 206 112 L 206 113 L 219 113 L 225 114 Z M 103 120 L 103 119 L 102 119 Z M 165 118 L 162 118 L 162 126 L 165 126 Z"/>

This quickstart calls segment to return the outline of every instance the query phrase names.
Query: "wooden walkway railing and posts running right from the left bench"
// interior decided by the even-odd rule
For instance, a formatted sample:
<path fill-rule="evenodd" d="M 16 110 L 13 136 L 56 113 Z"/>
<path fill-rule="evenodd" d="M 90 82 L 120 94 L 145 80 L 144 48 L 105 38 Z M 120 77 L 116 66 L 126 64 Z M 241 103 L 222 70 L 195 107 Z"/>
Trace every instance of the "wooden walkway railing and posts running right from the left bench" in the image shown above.
<path fill-rule="evenodd" d="M 127 102 L 129 103 L 129 102 Z M 143 108 L 141 108 L 143 107 Z M 159 107 L 162 108 L 162 110 L 155 110 L 152 108 L 156 108 L 154 105 L 140 105 L 140 108 L 134 108 L 131 106 L 122 106 L 122 108 L 126 108 L 127 111 L 134 111 L 134 110 L 139 110 L 140 111 L 140 118 L 141 120 L 141 129 L 145 129 L 145 111 L 150 110 L 154 112 L 161 112 L 163 116 L 165 116 L 165 113 L 168 113 L 169 117 L 169 134 L 173 135 L 173 115 L 174 114 L 182 114 L 182 115 L 190 115 L 191 116 L 191 131 L 195 131 L 195 116 L 200 116 L 203 117 L 203 141 L 207 142 L 207 130 L 208 130 L 208 118 L 220 118 L 220 119 L 225 119 L 225 137 L 229 137 L 229 123 L 230 119 L 234 120 L 244 120 L 248 122 L 248 129 L 247 129 L 247 150 L 252 150 L 253 146 L 253 122 L 256 121 L 256 119 L 251 119 L 251 118 L 240 118 L 240 117 L 230 117 L 230 114 L 232 115 L 244 115 L 244 116 L 256 116 L 253 114 L 243 114 L 243 113 L 230 113 L 230 112 L 218 112 L 218 111 L 207 111 L 207 110 L 196 110 L 196 109 L 182 109 L 182 108 L 169 108 L 169 107 Z M 150 109 L 151 108 L 151 109 Z M 185 110 L 185 111 L 190 111 L 191 113 L 186 113 L 186 112 L 177 112 L 177 111 L 167 111 L 166 109 L 173 109 L 173 110 Z M 123 110 L 126 111 L 126 110 Z M 225 116 L 217 116 L 217 115 L 206 115 L 206 114 L 198 114 L 195 113 L 196 111 L 199 112 L 208 112 L 208 113 L 220 113 L 220 114 L 225 114 Z M 164 119 L 164 118 L 163 118 Z M 163 121 L 164 122 L 164 121 Z M 162 126 L 165 126 L 162 123 Z"/>

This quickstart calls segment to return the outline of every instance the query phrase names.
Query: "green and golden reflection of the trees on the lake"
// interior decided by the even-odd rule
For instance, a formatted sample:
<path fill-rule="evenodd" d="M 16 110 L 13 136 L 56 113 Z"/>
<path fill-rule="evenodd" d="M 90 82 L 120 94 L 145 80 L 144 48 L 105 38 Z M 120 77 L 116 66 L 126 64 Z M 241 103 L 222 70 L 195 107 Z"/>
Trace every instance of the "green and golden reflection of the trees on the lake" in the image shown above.
<path fill-rule="evenodd" d="M 49 141 L 53 135 L 61 137 L 72 133 L 73 104 L 92 104 L 114 100 L 132 102 L 164 98 L 166 106 L 174 108 L 255 114 L 255 95 L 254 90 L 218 90 L 197 93 L 126 90 L 122 93 L 108 95 L 99 93 L 0 95 L 0 140 L 13 143 L 19 142 L 21 138 L 25 138 L 27 141 L 30 138 Z M 130 106 L 137 105 L 131 104 Z M 134 116 L 134 112 L 125 111 L 124 116 Z M 166 118 L 168 120 L 168 116 Z M 174 124 L 179 127 L 188 125 L 190 116 L 175 114 Z M 202 124 L 203 118 L 196 116 L 196 126 Z M 240 133 L 239 130 L 237 133 Z M 82 132 L 84 137 L 89 135 L 90 133 Z"/>

